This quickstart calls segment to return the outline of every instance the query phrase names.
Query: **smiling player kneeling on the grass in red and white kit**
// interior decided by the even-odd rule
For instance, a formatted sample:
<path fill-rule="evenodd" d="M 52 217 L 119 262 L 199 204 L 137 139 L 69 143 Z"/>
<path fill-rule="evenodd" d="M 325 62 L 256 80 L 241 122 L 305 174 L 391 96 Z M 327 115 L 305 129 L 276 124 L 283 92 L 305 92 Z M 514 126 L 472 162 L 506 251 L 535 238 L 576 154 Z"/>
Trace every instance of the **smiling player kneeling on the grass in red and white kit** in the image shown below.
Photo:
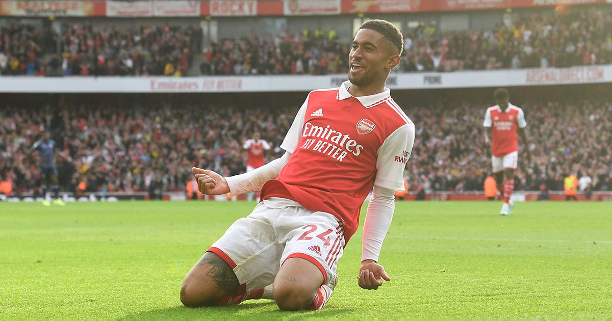
<path fill-rule="evenodd" d="M 349 81 L 308 94 L 280 146 L 282 157 L 225 178 L 193 168 L 204 194 L 260 191 L 262 201 L 185 276 L 185 306 L 267 298 L 282 310 L 323 308 L 372 189 L 357 283 L 376 290 L 390 281 L 378 257 L 414 142 L 414 124 L 385 87 L 402 48 L 393 24 L 365 22 L 349 53 Z"/>

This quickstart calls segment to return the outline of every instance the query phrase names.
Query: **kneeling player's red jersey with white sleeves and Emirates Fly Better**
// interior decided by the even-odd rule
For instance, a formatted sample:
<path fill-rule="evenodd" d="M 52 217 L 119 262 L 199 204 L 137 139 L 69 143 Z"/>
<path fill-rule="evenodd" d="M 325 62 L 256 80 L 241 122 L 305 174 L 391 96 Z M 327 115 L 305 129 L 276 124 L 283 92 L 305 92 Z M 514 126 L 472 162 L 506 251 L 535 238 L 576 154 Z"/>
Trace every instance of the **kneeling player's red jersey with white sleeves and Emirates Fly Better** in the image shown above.
<path fill-rule="evenodd" d="M 289 162 L 261 188 L 262 199 L 283 197 L 336 216 L 347 242 L 374 185 L 404 189 L 414 143 L 414 124 L 389 89 L 353 97 L 350 85 L 308 94 L 280 146 L 292 153 Z"/>

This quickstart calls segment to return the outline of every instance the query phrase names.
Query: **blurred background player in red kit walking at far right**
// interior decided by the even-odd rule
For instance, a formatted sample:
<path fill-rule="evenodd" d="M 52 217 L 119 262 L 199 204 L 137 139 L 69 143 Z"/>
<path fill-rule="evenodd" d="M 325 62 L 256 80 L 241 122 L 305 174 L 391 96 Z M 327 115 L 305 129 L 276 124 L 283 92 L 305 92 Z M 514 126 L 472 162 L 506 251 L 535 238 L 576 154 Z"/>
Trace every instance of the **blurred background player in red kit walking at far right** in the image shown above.
<path fill-rule="evenodd" d="M 503 191 L 504 204 L 501 215 L 510 215 L 513 202 L 510 200 L 514 190 L 514 171 L 518 166 L 518 138 L 521 136 L 528 163 L 531 152 L 524 128 L 527 126 L 523 109 L 509 102 L 508 90 L 495 90 L 493 97 L 497 105 L 487 108 L 483 126 L 487 129 L 485 142 L 491 144 L 491 162 L 498 191 Z"/>

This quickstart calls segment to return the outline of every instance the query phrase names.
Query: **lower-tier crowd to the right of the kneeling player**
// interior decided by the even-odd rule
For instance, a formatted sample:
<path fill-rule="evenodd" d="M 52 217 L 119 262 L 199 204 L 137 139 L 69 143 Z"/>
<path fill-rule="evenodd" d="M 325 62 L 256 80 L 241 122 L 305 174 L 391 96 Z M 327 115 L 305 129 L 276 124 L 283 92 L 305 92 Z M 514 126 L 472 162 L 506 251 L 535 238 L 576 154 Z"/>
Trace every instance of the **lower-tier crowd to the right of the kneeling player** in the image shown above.
<path fill-rule="evenodd" d="M 413 190 L 482 190 L 485 177 L 492 174 L 490 146 L 483 139 L 486 105 L 406 110 L 417 124 L 406 168 Z M 519 158 L 515 190 L 563 190 L 570 173 L 591 177 L 592 190 L 612 189 L 612 147 L 607 143 L 612 139 L 612 101 L 533 101 L 521 108 L 528 122 L 532 163 L 526 164 L 524 155 Z"/>

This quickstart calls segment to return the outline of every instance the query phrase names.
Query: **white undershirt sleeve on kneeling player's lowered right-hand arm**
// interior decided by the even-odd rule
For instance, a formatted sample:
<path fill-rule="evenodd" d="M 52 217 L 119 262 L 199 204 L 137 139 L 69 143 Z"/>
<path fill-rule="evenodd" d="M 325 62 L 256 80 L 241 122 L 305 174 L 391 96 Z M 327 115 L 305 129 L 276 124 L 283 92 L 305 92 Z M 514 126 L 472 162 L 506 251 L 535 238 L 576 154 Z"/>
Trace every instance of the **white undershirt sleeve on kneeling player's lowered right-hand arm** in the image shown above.
<path fill-rule="evenodd" d="M 365 215 L 364 238 L 361 248 L 361 260 L 378 262 L 383 241 L 389 231 L 395 210 L 395 191 L 381 186 L 374 186 L 372 198 L 368 203 Z"/>

